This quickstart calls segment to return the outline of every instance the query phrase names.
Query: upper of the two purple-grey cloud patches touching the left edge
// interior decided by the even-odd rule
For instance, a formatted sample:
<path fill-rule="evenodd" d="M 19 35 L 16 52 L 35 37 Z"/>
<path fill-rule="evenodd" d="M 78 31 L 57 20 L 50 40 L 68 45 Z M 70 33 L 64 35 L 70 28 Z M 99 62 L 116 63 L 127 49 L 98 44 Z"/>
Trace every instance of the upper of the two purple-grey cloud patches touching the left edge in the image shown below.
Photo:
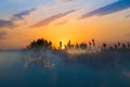
<path fill-rule="evenodd" d="M 12 21 L 0 20 L 0 27 L 15 27 L 15 24 Z"/>

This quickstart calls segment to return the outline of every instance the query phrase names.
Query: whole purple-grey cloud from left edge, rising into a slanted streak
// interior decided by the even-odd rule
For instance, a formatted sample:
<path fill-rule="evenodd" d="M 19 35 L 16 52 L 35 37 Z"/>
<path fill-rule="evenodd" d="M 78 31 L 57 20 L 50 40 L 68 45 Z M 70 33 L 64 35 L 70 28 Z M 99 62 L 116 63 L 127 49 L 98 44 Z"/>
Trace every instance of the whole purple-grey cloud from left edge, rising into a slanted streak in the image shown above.
<path fill-rule="evenodd" d="M 24 20 L 24 16 L 29 15 L 35 10 L 36 10 L 36 8 L 14 14 L 10 20 L 0 20 L 0 27 L 14 28 L 14 27 L 16 27 L 15 21 Z"/>

